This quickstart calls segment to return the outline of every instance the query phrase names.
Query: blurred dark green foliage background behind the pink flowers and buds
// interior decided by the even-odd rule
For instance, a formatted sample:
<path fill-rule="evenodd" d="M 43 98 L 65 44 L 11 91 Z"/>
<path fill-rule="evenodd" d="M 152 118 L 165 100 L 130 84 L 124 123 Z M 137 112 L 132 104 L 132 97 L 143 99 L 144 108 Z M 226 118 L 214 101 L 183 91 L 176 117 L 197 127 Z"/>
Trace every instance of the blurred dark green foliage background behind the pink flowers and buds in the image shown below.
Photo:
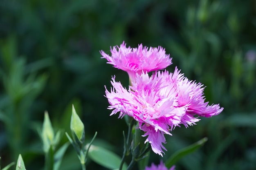
<path fill-rule="evenodd" d="M 163 46 L 173 57 L 167 69 L 178 66 L 202 82 L 207 101 L 225 108 L 196 126 L 175 128 L 164 160 L 208 137 L 177 170 L 256 169 L 256 0 L 0 0 L 1 167 L 21 153 L 28 170 L 43 169 L 37 131 L 44 111 L 56 131 L 70 133 L 72 104 L 86 140 L 97 131 L 95 144 L 122 155 L 127 126 L 109 117 L 103 95 L 112 75 L 124 86 L 128 75 L 99 51 L 110 53 L 123 41 Z M 159 159 L 150 155 L 150 162 Z M 71 146 L 61 169 L 81 169 Z"/>

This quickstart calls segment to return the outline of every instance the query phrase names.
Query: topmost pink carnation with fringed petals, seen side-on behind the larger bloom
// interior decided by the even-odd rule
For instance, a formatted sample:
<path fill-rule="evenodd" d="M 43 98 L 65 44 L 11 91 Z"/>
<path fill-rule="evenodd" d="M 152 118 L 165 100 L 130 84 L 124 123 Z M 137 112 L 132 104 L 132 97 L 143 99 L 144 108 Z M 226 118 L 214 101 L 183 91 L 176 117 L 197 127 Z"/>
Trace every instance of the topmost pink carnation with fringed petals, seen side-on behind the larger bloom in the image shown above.
<path fill-rule="evenodd" d="M 130 80 L 133 81 L 136 77 L 136 73 L 139 75 L 142 71 L 150 72 L 160 69 L 164 69 L 171 65 L 172 58 L 169 58 L 169 54 L 166 55 L 165 49 L 161 46 L 157 48 L 142 46 L 139 44 L 138 48 L 126 48 L 125 42 L 119 46 L 110 47 L 111 56 L 104 51 L 100 51 L 101 55 L 108 60 L 108 64 L 114 65 L 115 68 L 119 68 L 128 73 Z"/>

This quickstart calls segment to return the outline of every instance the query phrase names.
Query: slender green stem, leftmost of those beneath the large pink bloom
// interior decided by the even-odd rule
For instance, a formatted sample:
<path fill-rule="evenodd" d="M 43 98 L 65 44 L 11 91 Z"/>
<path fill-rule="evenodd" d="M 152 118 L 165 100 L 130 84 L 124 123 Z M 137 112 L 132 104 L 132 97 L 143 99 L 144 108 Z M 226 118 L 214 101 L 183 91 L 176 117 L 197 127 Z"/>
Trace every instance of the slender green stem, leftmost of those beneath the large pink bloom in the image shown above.
<path fill-rule="evenodd" d="M 127 148 L 131 142 L 132 142 L 132 139 L 131 139 L 131 133 L 132 133 L 132 127 L 133 125 L 135 124 L 135 120 L 132 119 L 132 121 L 130 121 L 130 124 L 129 124 L 129 127 L 128 127 L 128 134 L 127 134 L 127 138 L 126 138 L 126 141 L 124 141 L 124 153 L 123 153 L 123 157 L 121 159 L 121 163 L 120 163 L 120 166 L 119 166 L 119 170 L 122 170 L 123 168 L 123 165 L 124 165 L 124 161 L 126 159 L 126 156 L 128 156 L 130 154 L 130 149 L 131 147 Z"/>

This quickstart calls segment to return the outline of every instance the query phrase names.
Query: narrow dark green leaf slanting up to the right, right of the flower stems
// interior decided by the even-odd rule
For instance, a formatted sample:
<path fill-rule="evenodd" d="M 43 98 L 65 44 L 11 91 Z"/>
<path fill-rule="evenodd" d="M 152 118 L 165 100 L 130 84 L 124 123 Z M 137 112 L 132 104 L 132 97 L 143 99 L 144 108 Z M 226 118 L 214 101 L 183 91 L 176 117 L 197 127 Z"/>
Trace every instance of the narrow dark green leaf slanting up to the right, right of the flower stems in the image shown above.
<path fill-rule="evenodd" d="M 171 166 L 173 166 L 178 160 L 180 160 L 182 157 L 195 152 L 195 150 L 197 150 L 198 148 L 200 148 L 201 146 L 203 146 L 203 144 L 207 141 L 207 137 L 204 137 L 203 139 L 201 139 L 200 141 L 195 142 L 194 144 L 187 146 L 185 148 L 182 148 L 178 151 L 176 151 L 175 153 L 173 153 L 173 155 L 171 155 L 171 157 L 169 157 L 167 159 L 167 161 L 165 162 L 165 165 L 167 168 L 171 168 Z"/>

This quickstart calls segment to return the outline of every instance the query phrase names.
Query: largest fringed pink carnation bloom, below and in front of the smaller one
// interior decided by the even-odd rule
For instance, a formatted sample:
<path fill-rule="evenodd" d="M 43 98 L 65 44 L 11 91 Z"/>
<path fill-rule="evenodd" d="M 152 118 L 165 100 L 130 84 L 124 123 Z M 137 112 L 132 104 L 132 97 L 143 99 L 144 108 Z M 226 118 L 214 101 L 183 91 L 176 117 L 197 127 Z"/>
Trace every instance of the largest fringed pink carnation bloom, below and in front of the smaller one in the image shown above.
<path fill-rule="evenodd" d="M 219 104 L 209 106 L 204 102 L 202 84 L 189 81 L 175 68 L 174 73 L 158 71 L 149 76 L 142 71 L 137 74 L 128 90 L 120 82 L 111 82 L 113 88 L 106 89 L 106 97 L 113 109 L 110 115 L 119 114 L 133 117 L 139 122 L 146 142 L 152 150 L 163 156 L 164 134 L 171 135 L 175 126 L 192 126 L 199 121 L 198 116 L 211 117 L 222 112 Z M 106 86 L 105 86 L 106 88 Z"/>

